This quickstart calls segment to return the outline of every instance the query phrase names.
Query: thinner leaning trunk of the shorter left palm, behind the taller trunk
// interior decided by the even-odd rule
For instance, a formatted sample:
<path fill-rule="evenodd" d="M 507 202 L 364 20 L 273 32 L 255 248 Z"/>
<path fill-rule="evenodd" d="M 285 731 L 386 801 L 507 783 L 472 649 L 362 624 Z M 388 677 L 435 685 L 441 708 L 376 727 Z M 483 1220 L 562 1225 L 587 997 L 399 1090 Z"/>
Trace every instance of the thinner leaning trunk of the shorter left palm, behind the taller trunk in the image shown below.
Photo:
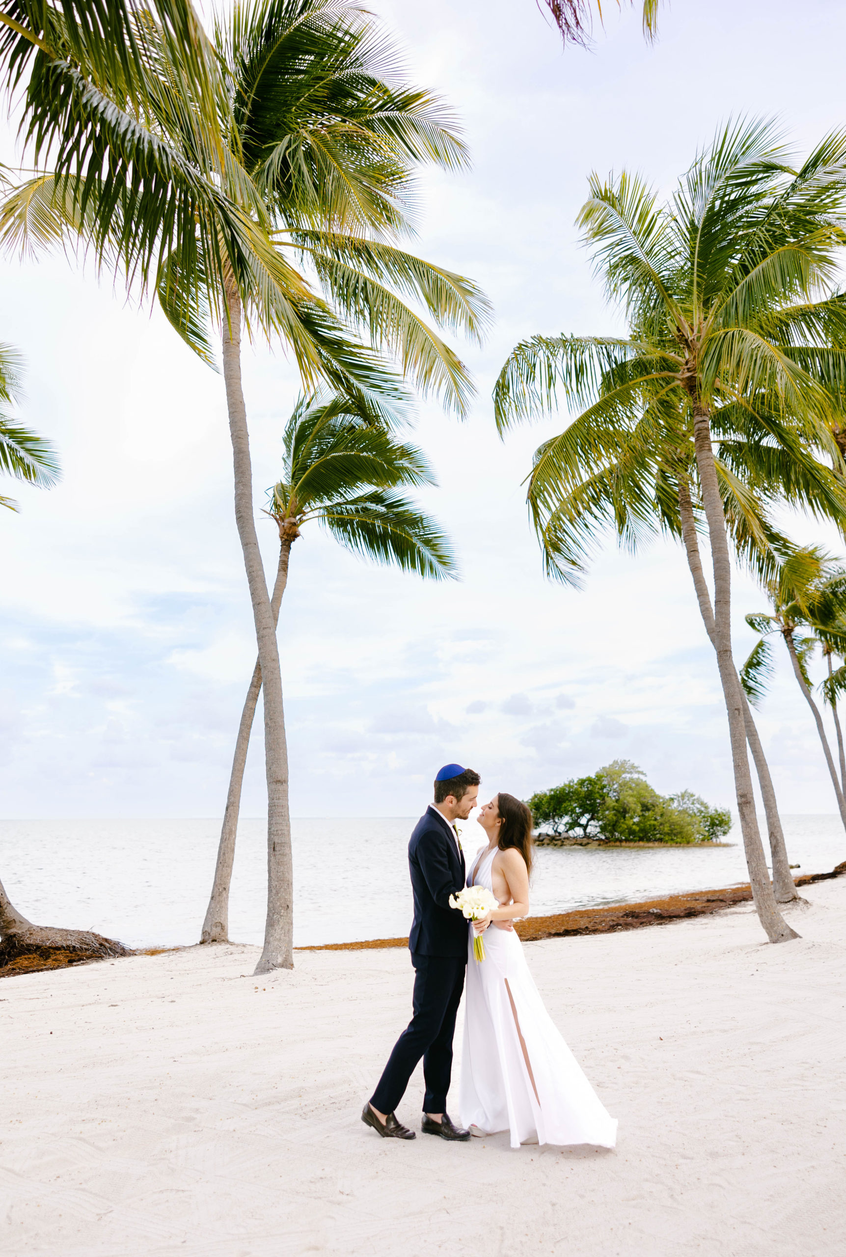
<path fill-rule="evenodd" d="M 288 583 L 288 559 L 290 558 L 292 539 L 283 537 L 279 544 L 279 567 L 277 568 L 277 582 L 273 587 L 270 610 L 273 611 L 273 623 L 279 623 L 279 607 L 282 596 Z M 217 847 L 217 864 L 215 865 L 215 880 L 211 886 L 211 897 L 206 909 L 206 919 L 202 923 L 201 943 L 228 943 L 229 941 L 229 887 L 233 880 L 233 864 L 235 861 L 235 838 L 238 836 L 238 817 L 241 808 L 241 787 L 244 784 L 244 768 L 246 766 L 246 753 L 250 745 L 250 733 L 255 718 L 255 706 L 261 693 L 261 664 L 256 659 L 253 669 L 253 680 L 246 691 L 241 723 L 238 727 L 235 739 L 235 754 L 233 757 L 233 771 L 229 777 L 229 793 L 226 796 L 226 811 L 224 823 L 220 827 L 220 845 Z"/>

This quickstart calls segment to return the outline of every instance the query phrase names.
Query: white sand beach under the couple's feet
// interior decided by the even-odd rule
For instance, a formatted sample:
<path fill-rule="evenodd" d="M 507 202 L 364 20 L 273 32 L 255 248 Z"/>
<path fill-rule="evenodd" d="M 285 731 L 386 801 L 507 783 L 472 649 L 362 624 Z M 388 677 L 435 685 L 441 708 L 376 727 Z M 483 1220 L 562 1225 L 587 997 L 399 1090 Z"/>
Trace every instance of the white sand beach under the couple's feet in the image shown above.
<path fill-rule="evenodd" d="M 615 1153 L 367 1130 L 410 1016 L 402 950 L 298 953 L 269 979 L 246 947 L 9 978 L 0 1251 L 840 1257 L 846 882 L 803 894 L 779 947 L 748 905 L 528 944 Z M 415 1126 L 421 1096 L 417 1073 Z"/>

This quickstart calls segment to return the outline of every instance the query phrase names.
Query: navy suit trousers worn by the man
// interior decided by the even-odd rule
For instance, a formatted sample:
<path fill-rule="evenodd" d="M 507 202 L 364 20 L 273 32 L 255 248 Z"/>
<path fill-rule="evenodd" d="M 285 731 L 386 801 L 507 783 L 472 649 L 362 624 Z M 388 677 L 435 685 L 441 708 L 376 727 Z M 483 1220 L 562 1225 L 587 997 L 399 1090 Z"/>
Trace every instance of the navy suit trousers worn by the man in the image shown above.
<path fill-rule="evenodd" d="M 424 1112 L 445 1112 L 453 1073 L 455 1016 L 464 991 L 466 957 L 412 955 L 414 1017 L 402 1031 L 371 1096 L 380 1112 L 393 1112 L 422 1056 Z"/>

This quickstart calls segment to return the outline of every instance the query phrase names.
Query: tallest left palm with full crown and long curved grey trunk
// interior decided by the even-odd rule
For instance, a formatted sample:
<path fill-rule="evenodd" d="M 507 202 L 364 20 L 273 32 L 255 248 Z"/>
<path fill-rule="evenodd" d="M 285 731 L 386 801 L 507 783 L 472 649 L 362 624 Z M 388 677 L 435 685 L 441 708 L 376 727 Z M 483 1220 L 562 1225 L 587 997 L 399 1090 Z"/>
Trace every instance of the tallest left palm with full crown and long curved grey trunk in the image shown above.
<path fill-rule="evenodd" d="M 402 295 L 476 337 L 489 308 L 469 280 L 391 244 L 409 229 L 416 167 L 454 168 L 466 157 L 439 102 L 396 80 L 393 50 L 372 19 L 348 0 L 236 5 L 214 36 L 219 117 L 207 131 L 224 137 L 222 157 L 205 131 L 196 134 L 202 99 L 191 94 L 179 53 L 163 38 L 156 44 L 151 20 L 145 30 L 153 54 L 142 121 L 156 152 L 170 155 L 175 171 L 194 172 L 192 243 L 175 233 L 173 215 L 166 222 L 152 210 L 140 216 L 135 176 L 121 182 L 111 171 L 94 180 L 88 199 L 88 171 L 75 181 L 67 173 L 29 180 L 8 199 L 0 235 L 28 249 L 77 233 L 101 261 L 126 268 L 142 287 L 155 254 L 158 302 L 205 361 L 214 361 L 209 319 L 221 328 L 235 515 L 264 681 L 269 892 L 256 972 L 265 972 L 293 964 L 290 822 L 279 655 L 253 519 L 243 328 L 282 338 L 307 387 L 324 380 L 370 405 L 380 393 L 396 398 L 400 385 L 376 353 L 385 349 L 422 391 L 441 390 L 463 412 L 471 391 L 465 367 Z M 98 197 L 107 192 L 104 207 Z M 142 255 L 136 235 L 156 248 Z M 370 347 L 351 337 L 349 324 Z"/>

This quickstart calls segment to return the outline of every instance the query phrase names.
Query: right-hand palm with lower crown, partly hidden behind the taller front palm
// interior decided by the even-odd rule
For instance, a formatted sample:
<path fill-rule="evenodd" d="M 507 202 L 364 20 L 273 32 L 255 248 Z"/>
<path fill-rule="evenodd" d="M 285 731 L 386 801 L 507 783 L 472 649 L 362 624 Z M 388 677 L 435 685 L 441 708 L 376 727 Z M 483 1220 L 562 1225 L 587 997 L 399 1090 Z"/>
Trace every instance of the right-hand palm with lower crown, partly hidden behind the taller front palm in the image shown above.
<path fill-rule="evenodd" d="M 831 468 L 818 463 L 773 416 L 727 407 L 720 412 L 718 456 L 723 508 L 738 561 L 767 579 L 777 556 L 789 548 L 769 524 L 767 507 L 811 508 L 822 518 L 843 520 L 846 493 Z M 536 461 L 543 458 L 538 450 Z M 577 450 L 556 509 L 536 518 L 547 573 L 581 583 L 590 551 L 602 530 L 616 533 L 635 552 L 660 533 L 683 542 L 699 610 L 714 645 L 714 610 L 699 551 L 701 493 L 689 416 L 673 412 L 646 392 L 642 415 L 618 425 L 613 444 L 591 460 Z M 529 499 L 533 503 L 533 499 Z M 743 695 L 747 740 L 761 784 L 769 833 L 773 891 L 778 903 L 798 897 L 791 874 L 776 792 L 761 738 Z"/>

